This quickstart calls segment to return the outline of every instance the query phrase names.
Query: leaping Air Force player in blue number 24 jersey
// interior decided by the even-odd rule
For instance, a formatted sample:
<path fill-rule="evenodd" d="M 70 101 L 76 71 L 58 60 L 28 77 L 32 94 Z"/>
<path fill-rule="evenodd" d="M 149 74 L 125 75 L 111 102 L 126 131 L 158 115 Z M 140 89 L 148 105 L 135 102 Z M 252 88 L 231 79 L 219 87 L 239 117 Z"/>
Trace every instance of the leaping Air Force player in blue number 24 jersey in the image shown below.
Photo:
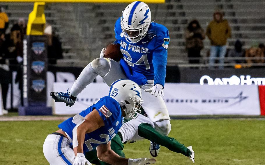
<path fill-rule="evenodd" d="M 150 8 L 141 1 L 129 4 L 117 19 L 115 24 L 114 44 L 120 44 L 123 59 L 120 63 L 103 58 L 104 48 L 100 58 L 90 62 L 81 72 L 70 92 L 53 92 L 56 101 L 72 106 L 77 95 L 100 75 L 107 85 L 121 78 L 136 82 L 145 100 L 142 107 L 155 123 L 155 128 L 168 135 L 171 130 L 170 117 L 162 98 L 167 65 L 167 47 L 169 32 L 161 24 L 151 21 Z M 149 147 L 153 157 L 160 150 L 159 145 L 152 143 Z"/>

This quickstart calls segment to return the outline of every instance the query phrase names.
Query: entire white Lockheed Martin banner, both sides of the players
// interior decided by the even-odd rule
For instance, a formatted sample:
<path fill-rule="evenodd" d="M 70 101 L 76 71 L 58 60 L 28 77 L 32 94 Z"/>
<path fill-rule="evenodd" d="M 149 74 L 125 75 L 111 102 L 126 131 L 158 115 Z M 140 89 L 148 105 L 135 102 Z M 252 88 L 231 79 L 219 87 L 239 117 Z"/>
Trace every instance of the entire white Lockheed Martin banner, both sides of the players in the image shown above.
<path fill-rule="evenodd" d="M 73 83 L 54 83 L 53 91 L 66 92 L 72 85 Z M 54 114 L 77 114 L 98 98 L 107 96 L 108 92 L 109 86 L 105 83 L 91 83 L 78 95 L 72 107 L 66 107 L 65 103 L 54 103 Z M 166 83 L 163 98 L 169 115 L 260 115 L 256 85 Z"/>

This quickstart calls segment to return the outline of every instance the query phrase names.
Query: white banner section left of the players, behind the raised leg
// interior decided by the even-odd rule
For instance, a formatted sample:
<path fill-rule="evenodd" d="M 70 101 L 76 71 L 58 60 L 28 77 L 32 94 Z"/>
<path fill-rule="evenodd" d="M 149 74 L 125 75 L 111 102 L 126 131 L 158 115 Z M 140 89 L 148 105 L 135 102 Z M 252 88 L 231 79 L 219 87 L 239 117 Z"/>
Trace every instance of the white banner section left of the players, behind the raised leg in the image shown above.
<path fill-rule="evenodd" d="M 69 91 L 73 83 L 54 83 L 55 92 Z M 72 107 L 66 106 L 65 103 L 56 102 L 53 105 L 54 114 L 78 114 L 82 110 L 96 102 L 99 98 L 109 94 L 109 86 L 105 83 L 91 83 L 78 95 L 75 104 Z M 54 102 L 54 101 L 53 101 Z"/>

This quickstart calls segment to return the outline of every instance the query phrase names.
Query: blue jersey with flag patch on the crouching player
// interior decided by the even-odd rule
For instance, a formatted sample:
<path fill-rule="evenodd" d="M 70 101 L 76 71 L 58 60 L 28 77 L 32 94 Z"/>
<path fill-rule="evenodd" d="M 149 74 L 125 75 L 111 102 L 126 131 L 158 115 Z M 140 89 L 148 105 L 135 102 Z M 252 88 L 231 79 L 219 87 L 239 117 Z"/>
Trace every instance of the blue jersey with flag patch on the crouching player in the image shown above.
<path fill-rule="evenodd" d="M 96 109 L 103 119 L 105 125 L 97 130 L 85 134 L 84 153 L 95 149 L 100 144 L 108 143 L 119 131 L 122 125 L 123 117 L 121 116 L 120 104 L 109 96 L 100 98 L 95 104 L 83 110 L 79 114 L 85 117 L 87 114 Z M 73 128 L 76 124 L 72 122 L 73 117 L 63 121 L 58 125 L 73 139 Z"/>

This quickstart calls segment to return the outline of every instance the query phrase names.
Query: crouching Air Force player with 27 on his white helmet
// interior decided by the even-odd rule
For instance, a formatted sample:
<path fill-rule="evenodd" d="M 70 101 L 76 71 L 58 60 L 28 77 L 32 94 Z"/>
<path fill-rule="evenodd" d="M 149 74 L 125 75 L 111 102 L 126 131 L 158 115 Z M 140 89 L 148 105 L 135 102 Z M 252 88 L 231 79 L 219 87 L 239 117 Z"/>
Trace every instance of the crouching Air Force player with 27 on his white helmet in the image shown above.
<path fill-rule="evenodd" d="M 140 87 L 131 80 L 117 80 L 111 85 L 109 96 L 63 121 L 56 132 L 49 134 L 43 153 L 50 165 L 91 165 L 83 153 L 97 148 L 98 158 L 114 165 L 145 165 L 151 158 L 126 159 L 111 150 L 110 140 L 121 128 L 123 117 L 135 119 L 140 112 Z"/>

